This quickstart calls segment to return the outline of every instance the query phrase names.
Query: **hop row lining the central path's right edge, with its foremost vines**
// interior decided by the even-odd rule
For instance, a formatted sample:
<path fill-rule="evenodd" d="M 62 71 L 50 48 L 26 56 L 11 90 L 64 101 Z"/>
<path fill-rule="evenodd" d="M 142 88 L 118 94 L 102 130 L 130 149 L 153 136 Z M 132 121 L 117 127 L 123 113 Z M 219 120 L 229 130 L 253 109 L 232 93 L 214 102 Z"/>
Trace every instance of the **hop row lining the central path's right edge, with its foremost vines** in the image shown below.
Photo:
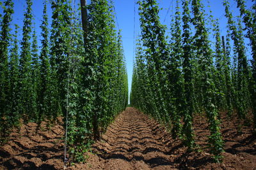
<path fill-rule="evenodd" d="M 218 98 L 216 94 L 223 94 L 225 86 L 220 84 L 220 92 L 216 92 L 212 74 L 214 55 L 205 27 L 202 3 L 192 1 L 193 18 L 190 16 L 189 3 L 191 1 L 182 1 L 182 25 L 180 3 L 177 1 L 169 48 L 165 40 L 165 27 L 159 22 L 156 1 L 138 2 L 141 36 L 132 74 L 131 104 L 151 114 L 167 128 L 171 127 L 173 138 L 182 137 L 189 151 L 195 148 L 193 113 L 205 111 L 211 132 L 209 146 L 215 159 L 220 160 L 223 141 L 214 104 L 225 101 L 224 96 L 215 101 Z M 195 26 L 194 36 L 191 36 L 191 23 Z M 180 30 L 181 25 L 183 31 Z M 219 74 L 219 83 L 225 79 L 222 62 L 220 31 L 216 25 L 216 74 Z M 183 128 L 181 118 L 184 120 Z"/>

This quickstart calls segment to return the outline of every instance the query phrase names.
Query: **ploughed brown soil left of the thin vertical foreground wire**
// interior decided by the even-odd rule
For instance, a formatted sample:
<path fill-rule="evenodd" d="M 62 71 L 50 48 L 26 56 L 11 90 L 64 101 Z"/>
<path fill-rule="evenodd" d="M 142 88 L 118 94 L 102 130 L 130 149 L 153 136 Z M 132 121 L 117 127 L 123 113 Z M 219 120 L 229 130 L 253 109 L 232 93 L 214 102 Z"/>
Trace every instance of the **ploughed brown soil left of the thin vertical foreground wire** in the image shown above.
<path fill-rule="evenodd" d="M 63 122 L 40 127 L 29 122 L 10 134 L 10 140 L 0 147 L 0 169 L 63 169 Z"/>

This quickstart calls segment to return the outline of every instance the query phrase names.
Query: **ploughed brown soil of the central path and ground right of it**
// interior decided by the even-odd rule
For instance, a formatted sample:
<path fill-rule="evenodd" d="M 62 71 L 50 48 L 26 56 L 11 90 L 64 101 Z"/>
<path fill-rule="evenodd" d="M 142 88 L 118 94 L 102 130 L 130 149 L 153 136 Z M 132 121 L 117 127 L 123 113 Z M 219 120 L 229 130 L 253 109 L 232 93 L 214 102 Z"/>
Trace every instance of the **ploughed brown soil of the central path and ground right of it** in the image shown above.
<path fill-rule="evenodd" d="M 93 145 L 87 163 L 70 169 L 256 169 L 256 138 L 250 128 L 237 134 L 236 121 L 222 118 L 226 153 L 221 164 L 214 163 L 207 149 L 204 117 L 196 116 L 194 122 L 196 144 L 202 151 L 188 153 L 179 139 L 172 139 L 152 118 L 127 108 Z"/>

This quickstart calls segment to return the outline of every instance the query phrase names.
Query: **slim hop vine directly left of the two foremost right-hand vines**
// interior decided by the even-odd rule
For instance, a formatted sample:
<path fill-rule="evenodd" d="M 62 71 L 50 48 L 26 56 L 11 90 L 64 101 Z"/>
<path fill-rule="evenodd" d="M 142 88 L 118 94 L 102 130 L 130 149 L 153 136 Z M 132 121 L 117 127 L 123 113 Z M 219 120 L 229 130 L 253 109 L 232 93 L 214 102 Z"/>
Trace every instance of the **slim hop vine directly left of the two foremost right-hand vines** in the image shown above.
<path fill-rule="evenodd" d="M 180 137 L 182 125 L 180 124 L 180 117 L 184 115 L 184 82 L 182 79 L 182 33 L 180 30 L 180 11 L 179 11 L 179 1 L 176 1 L 176 12 L 175 12 L 175 22 L 172 24 L 172 38 L 171 38 L 171 53 L 170 53 L 170 63 L 167 62 L 167 76 L 169 80 L 170 87 L 172 89 L 172 134 L 173 138 Z"/>

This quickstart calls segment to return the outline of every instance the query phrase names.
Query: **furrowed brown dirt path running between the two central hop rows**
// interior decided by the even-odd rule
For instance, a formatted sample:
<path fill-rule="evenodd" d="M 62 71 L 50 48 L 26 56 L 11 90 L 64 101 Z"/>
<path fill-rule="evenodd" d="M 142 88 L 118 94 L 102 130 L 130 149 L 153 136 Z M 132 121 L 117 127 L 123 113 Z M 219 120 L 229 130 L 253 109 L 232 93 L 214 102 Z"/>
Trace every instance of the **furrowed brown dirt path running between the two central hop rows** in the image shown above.
<path fill-rule="evenodd" d="M 167 133 L 134 108 L 127 108 L 93 145 L 92 169 L 175 169 Z"/>

